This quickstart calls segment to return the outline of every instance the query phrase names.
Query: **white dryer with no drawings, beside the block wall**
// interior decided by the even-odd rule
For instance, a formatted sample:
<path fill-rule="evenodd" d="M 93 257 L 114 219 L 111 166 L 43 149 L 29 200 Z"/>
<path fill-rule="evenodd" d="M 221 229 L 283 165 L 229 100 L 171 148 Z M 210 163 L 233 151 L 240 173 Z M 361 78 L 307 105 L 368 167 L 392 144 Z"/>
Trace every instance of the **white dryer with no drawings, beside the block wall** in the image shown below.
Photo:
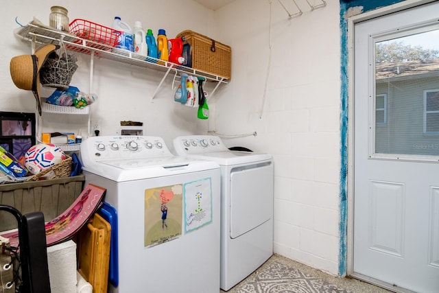
<path fill-rule="evenodd" d="M 177 137 L 173 152 L 221 166 L 220 287 L 227 291 L 273 254 L 272 156 L 228 150 L 210 135 Z"/>

